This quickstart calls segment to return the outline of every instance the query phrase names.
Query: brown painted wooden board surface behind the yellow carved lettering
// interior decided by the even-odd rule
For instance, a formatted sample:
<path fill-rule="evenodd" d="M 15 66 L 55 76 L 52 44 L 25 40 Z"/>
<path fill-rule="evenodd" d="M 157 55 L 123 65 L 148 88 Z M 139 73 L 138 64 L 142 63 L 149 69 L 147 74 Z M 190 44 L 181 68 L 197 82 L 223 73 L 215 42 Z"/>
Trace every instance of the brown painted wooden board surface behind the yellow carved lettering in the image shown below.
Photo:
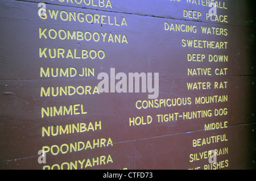
<path fill-rule="evenodd" d="M 192 161 L 191 154 L 228 148 L 228 154 L 219 155 L 218 169 L 255 169 L 255 27 L 249 1 L 225 1 L 228 23 L 213 23 L 205 19 L 187 19 L 183 10 L 201 11 L 208 7 L 192 5 L 187 1 L 114 1 L 113 9 L 85 6 L 60 1 L 46 2 L 47 9 L 116 17 L 120 23 L 125 17 L 127 26 L 101 23 L 81 23 L 60 19 L 41 19 L 38 16 L 40 1 L 0 2 L 0 169 L 43 169 L 83 159 L 100 159 L 111 155 L 112 162 L 86 166 L 82 169 L 209 169 L 208 158 Z M 49 15 L 48 15 L 49 17 Z M 113 19 L 112 19 L 113 20 Z M 164 23 L 196 26 L 197 32 L 164 30 Z M 207 35 L 201 26 L 228 30 L 227 36 Z M 55 30 L 90 31 L 125 35 L 128 43 L 86 40 L 60 40 L 39 37 L 39 28 Z M 47 33 L 46 33 L 47 34 Z M 226 49 L 182 47 L 182 39 L 228 41 Z M 104 50 L 105 58 L 47 58 L 39 57 L 39 48 L 65 48 Z M 203 62 L 187 60 L 188 53 L 205 54 Z M 209 62 L 209 54 L 226 55 L 228 62 Z M 94 68 L 95 76 L 44 77 L 43 68 Z M 102 93 L 40 96 L 42 87 L 97 86 L 97 74 L 159 73 L 158 99 L 191 98 L 191 104 L 155 108 L 137 108 L 138 100 L 148 100 L 148 93 Z M 212 75 L 188 75 L 188 68 L 211 68 Z M 226 69 L 225 75 L 215 75 L 215 69 Z M 116 81 L 117 82 L 117 81 Z M 211 89 L 188 90 L 188 82 L 210 82 Z M 228 82 L 225 89 L 214 89 L 214 82 Z M 93 91 L 93 90 L 91 90 Z M 227 102 L 196 104 L 201 96 L 227 95 Z M 42 107 L 83 105 L 82 115 L 46 116 Z M 214 115 L 224 109 L 226 115 Z M 183 119 L 183 112 L 211 110 L 213 115 L 197 119 Z M 157 115 L 177 113 L 171 121 L 158 121 Z M 152 123 L 131 125 L 133 117 L 152 116 Z M 42 136 L 42 129 L 67 124 L 101 121 L 102 129 L 82 133 Z M 228 128 L 205 131 L 205 124 L 224 123 Z M 193 140 L 224 135 L 226 141 L 193 146 Z M 46 154 L 46 164 L 38 163 L 38 151 L 43 146 L 75 144 L 111 138 L 113 145 L 102 148 L 73 150 L 67 153 Z M 85 162 L 86 162 L 85 161 Z M 64 169 L 67 169 L 67 164 Z M 77 169 L 81 169 L 78 164 Z M 56 169 L 57 166 L 54 167 Z"/>

